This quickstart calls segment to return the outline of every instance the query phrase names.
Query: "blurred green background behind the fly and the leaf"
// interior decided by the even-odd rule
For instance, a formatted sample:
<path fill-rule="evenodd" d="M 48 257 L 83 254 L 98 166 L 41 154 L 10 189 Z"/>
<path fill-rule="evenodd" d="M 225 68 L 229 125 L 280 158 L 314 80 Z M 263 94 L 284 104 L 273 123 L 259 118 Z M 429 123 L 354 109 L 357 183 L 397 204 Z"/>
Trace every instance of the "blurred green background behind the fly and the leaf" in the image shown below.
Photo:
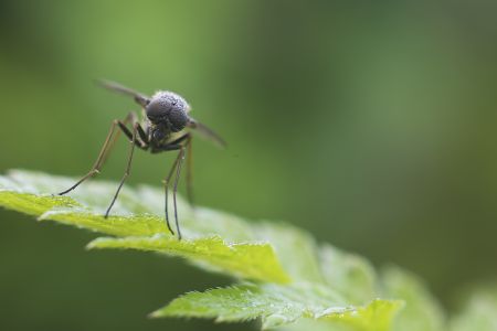
<path fill-rule="evenodd" d="M 451 308 L 497 275 L 496 14 L 484 0 L 1 1 L 0 170 L 85 173 L 136 109 L 94 78 L 171 89 L 229 142 L 194 142 L 199 204 L 398 264 Z M 125 158 L 121 142 L 101 178 Z M 159 185 L 171 159 L 140 153 L 129 182 Z M 146 318 L 226 278 L 0 221 L 2 330 L 253 327 Z"/>

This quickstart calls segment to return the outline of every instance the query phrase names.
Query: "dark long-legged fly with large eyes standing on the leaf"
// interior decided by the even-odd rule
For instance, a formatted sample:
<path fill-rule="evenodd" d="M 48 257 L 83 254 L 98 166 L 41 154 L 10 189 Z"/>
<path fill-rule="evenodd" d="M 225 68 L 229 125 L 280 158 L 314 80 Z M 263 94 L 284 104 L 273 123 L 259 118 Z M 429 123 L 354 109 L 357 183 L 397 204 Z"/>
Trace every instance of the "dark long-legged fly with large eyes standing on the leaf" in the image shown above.
<path fill-rule="evenodd" d="M 175 231 L 171 227 L 168 215 L 168 191 L 170 181 L 176 174 L 172 189 L 172 199 L 175 206 L 176 229 L 178 232 L 178 239 L 181 239 L 181 231 L 178 223 L 176 194 L 178 191 L 181 167 L 184 159 L 187 159 L 187 192 L 190 203 L 193 203 L 191 178 L 191 129 L 194 129 L 200 135 L 212 140 L 220 147 L 225 147 L 224 140 L 207 126 L 193 119 L 190 116 L 190 105 L 184 100 L 184 98 L 176 93 L 169 90 L 159 90 L 151 97 L 148 97 L 141 93 L 138 93 L 114 82 L 98 81 L 98 83 L 105 88 L 133 97 L 135 103 L 141 106 L 141 118 L 139 118 L 136 113 L 131 111 L 128 114 L 128 116 L 126 116 L 124 120 L 115 119 L 92 169 L 74 185 L 63 192 L 60 192 L 59 195 L 64 195 L 73 191 L 85 180 L 98 174 L 113 146 L 116 143 L 120 132 L 123 132 L 130 141 L 129 156 L 123 179 L 120 180 L 117 191 L 114 194 L 114 197 L 109 206 L 107 207 L 107 211 L 105 212 L 105 217 L 107 218 L 114 203 L 116 202 L 117 196 L 119 195 L 119 191 L 123 188 L 123 184 L 129 177 L 135 148 L 139 148 L 151 153 L 178 151 L 171 170 L 163 181 L 165 214 L 168 229 L 172 235 L 175 235 Z"/>

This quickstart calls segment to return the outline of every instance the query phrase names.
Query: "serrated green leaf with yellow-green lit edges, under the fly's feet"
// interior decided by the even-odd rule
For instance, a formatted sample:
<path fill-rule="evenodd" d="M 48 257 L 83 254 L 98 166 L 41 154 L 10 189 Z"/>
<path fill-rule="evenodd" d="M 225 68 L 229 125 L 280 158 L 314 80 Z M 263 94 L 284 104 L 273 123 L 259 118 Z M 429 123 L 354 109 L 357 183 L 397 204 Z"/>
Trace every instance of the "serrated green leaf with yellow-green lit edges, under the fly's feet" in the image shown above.
<path fill-rule="evenodd" d="M 163 222 L 163 190 L 123 188 L 113 214 L 103 214 L 116 183 L 88 181 L 68 196 L 52 195 L 74 179 L 29 171 L 0 177 L 0 205 L 112 237 L 88 248 L 118 248 L 179 256 L 204 270 L 234 277 L 241 284 L 190 292 L 154 313 L 155 317 L 199 317 L 216 321 L 261 318 L 263 328 L 319 320 L 328 330 L 389 330 L 402 302 L 381 291 L 373 268 L 362 258 L 330 245 L 318 245 L 283 223 L 247 222 L 181 199 L 182 241 Z M 107 200 L 108 199 L 108 200 Z M 337 329 L 340 328 L 340 329 Z M 346 328 L 346 329 L 343 329 Z"/>

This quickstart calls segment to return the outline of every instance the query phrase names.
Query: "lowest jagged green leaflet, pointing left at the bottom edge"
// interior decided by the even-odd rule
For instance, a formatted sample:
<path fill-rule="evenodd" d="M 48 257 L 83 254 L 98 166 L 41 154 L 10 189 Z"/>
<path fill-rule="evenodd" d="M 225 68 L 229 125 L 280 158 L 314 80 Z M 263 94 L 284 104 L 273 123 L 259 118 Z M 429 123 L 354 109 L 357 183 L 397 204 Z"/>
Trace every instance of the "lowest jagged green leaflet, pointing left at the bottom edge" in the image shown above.
<path fill-rule="evenodd" d="M 343 306 L 343 299 L 329 288 L 294 284 L 240 285 L 190 292 L 152 317 L 215 318 L 218 322 L 262 318 L 263 329 L 292 323 L 300 318 L 349 324 L 353 330 L 389 330 L 400 301 L 373 300 L 364 307 Z"/>

